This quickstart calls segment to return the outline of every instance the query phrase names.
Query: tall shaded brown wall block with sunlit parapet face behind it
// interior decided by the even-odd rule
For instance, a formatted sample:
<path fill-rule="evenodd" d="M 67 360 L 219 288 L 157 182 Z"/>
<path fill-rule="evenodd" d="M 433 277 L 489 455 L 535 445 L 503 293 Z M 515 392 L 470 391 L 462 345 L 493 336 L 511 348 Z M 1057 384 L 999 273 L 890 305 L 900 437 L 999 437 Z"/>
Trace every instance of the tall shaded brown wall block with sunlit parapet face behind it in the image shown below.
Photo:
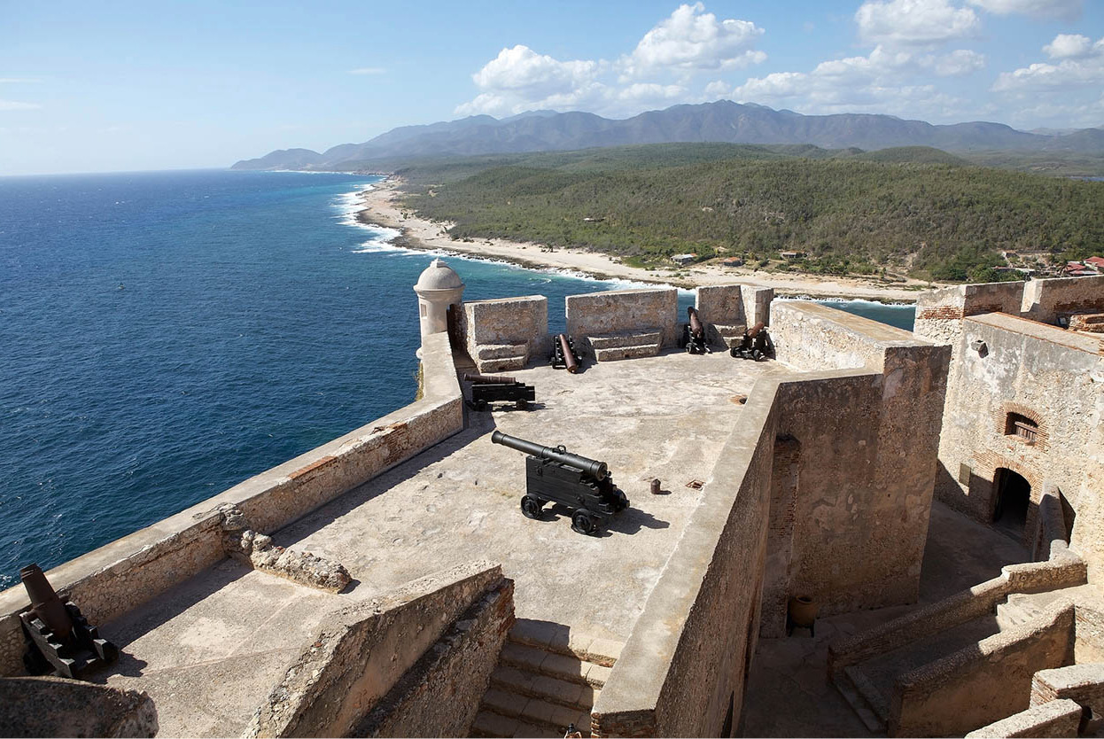
<path fill-rule="evenodd" d="M 781 390 L 778 432 L 798 448 L 797 479 L 789 510 L 772 510 L 772 530 L 793 529 L 792 552 L 785 562 L 772 552 L 767 577 L 788 592 L 764 614 L 764 634 L 782 630 L 795 595 L 824 614 L 915 601 L 949 349 L 802 302 L 774 305 L 772 334 L 781 361 L 826 371 Z"/>

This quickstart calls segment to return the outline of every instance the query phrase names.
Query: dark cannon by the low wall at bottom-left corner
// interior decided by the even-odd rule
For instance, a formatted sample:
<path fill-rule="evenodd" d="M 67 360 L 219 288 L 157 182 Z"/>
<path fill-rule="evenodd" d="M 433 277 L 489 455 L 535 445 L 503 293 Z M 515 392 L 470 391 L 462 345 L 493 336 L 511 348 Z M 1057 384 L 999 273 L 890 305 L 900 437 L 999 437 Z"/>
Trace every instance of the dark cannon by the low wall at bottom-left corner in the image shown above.
<path fill-rule="evenodd" d="M 81 609 L 62 602 L 38 564 L 28 564 L 19 577 L 31 599 L 31 608 L 19 614 L 31 642 L 23 655 L 26 672 L 74 679 L 119 658 L 118 648 L 99 637 Z"/>

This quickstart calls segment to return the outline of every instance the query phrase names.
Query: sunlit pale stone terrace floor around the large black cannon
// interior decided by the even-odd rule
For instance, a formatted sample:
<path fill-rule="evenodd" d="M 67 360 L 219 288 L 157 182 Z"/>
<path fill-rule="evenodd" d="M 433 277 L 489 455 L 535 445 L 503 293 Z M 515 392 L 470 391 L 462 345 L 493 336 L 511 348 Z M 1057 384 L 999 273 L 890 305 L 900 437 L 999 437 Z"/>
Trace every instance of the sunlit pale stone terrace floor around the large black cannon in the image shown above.
<path fill-rule="evenodd" d="M 755 379 L 773 362 L 682 352 L 513 372 L 537 388 L 530 411 L 475 413 L 469 427 L 274 535 L 342 562 L 332 595 L 230 561 L 100 631 L 123 650 L 102 679 L 147 690 L 162 736 L 238 736 L 325 614 L 459 562 L 502 563 L 519 617 L 624 642 L 673 551 Z M 524 454 L 501 429 L 606 462 L 630 508 L 598 537 L 562 511 L 521 515 Z M 662 494 L 651 495 L 658 477 Z"/>

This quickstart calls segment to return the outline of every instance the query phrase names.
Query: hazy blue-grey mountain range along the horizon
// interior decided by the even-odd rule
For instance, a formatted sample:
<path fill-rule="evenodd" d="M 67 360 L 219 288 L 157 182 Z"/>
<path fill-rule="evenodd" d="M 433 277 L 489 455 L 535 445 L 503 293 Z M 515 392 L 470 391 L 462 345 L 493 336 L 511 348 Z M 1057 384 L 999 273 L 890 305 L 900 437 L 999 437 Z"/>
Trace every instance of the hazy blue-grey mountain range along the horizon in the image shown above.
<path fill-rule="evenodd" d="M 866 150 L 928 146 L 956 152 L 1104 155 L 1104 128 L 1028 133 L 997 123 L 932 125 L 857 113 L 806 116 L 754 103 L 718 101 L 675 105 L 625 119 L 553 110 L 533 110 L 501 119 L 469 116 L 424 126 L 401 126 L 363 144 L 342 144 L 321 154 L 310 149 L 279 149 L 258 159 L 238 161 L 233 169 L 352 170 L 399 159 L 686 141 L 813 144 L 830 149 Z"/>

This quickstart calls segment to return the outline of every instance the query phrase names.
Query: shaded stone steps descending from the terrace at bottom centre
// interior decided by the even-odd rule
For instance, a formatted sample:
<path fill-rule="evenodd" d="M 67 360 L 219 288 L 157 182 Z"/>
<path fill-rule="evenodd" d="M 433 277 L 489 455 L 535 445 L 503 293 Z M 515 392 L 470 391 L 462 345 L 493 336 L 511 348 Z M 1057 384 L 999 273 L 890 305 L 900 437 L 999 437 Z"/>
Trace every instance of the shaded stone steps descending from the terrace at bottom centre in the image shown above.
<path fill-rule="evenodd" d="M 569 724 L 591 732 L 598 699 L 622 644 L 566 626 L 519 619 L 502 645 L 473 737 L 563 737 Z"/>

